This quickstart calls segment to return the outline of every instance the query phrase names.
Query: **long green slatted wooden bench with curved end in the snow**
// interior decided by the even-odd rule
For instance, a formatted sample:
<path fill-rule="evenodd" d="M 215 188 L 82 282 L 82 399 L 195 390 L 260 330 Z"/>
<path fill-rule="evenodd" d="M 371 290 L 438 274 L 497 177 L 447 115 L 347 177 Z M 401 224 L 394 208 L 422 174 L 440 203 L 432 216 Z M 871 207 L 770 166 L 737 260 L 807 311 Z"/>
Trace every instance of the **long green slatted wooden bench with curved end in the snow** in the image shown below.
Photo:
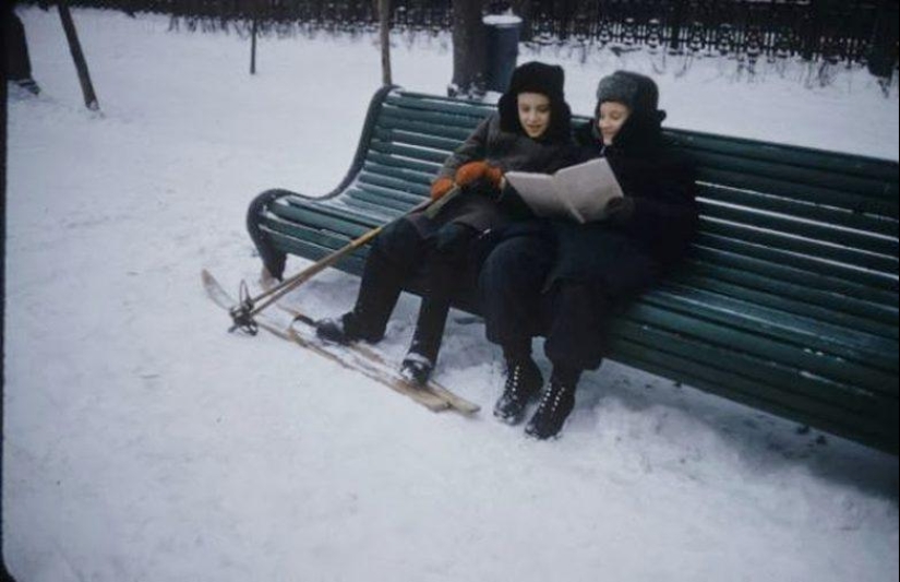
<path fill-rule="evenodd" d="M 379 91 L 338 188 L 262 193 L 251 236 L 321 259 L 427 197 L 493 109 Z M 897 454 L 898 164 L 665 133 L 697 164 L 700 229 L 683 268 L 616 320 L 610 357 Z M 337 266 L 360 274 L 365 253 Z"/>

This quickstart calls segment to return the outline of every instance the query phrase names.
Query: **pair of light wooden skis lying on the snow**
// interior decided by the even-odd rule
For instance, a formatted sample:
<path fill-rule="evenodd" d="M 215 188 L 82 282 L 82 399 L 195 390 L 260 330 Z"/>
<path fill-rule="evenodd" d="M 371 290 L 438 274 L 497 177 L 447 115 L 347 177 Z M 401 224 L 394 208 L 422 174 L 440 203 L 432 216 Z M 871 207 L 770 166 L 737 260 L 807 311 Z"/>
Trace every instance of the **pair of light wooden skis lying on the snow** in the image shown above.
<path fill-rule="evenodd" d="M 203 288 L 206 290 L 209 299 L 229 313 L 232 313 L 232 310 L 239 302 L 225 290 L 221 284 L 219 284 L 208 271 L 204 270 L 202 272 L 202 278 Z M 359 342 L 346 346 L 322 343 L 315 336 L 315 326 L 311 318 L 296 309 L 285 307 L 280 304 L 276 305 L 293 318 L 293 323 L 285 328 L 265 314 L 256 313 L 253 317 L 253 321 L 259 328 L 307 348 L 344 368 L 358 371 L 367 378 L 375 380 L 395 392 L 408 396 L 430 411 L 455 411 L 465 415 L 471 415 L 480 409 L 477 404 L 454 394 L 433 380 L 429 381 L 425 385 L 410 382 L 401 377 L 394 366 L 385 360 L 384 357 L 371 346 Z"/>

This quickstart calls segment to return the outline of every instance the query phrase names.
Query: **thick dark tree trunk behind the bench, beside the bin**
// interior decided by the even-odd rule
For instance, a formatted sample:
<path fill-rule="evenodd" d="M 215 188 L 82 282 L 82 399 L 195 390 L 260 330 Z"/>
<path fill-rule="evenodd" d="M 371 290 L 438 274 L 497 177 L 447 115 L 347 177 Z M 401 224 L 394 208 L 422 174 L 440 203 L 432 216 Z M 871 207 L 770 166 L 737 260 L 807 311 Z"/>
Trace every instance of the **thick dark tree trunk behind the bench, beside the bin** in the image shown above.
<path fill-rule="evenodd" d="M 487 33 L 481 0 L 453 0 L 453 81 L 451 97 L 484 95 Z"/>

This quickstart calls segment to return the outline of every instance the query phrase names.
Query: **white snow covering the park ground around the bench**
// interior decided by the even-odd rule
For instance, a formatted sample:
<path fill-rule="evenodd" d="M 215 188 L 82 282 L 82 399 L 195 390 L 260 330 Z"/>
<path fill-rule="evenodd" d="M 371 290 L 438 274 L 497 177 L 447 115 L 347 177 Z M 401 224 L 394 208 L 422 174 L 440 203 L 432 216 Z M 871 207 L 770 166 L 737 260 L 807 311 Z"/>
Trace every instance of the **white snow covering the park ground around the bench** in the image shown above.
<path fill-rule="evenodd" d="M 437 378 L 481 404 L 471 419 L 225 333 L 200 271 L 255 281 L 250 199 L 340 180 L 380 82 L 372 37 L 265 38 L 250 76 L 237 35 L 74 10 L 97 116 L 57 15 L 20 13 L 44 90 L 9 102 L 3 553 L 20 582 L 897 579 L 897 458 L 614 363 L 583 381 L 563 438 L 535 442 L 491 417 L 502 358 L 463 313 Z M 565 64 L 578 112 L 604 72 L 661 66 L 539 57 Z M 398 83 L 444 92 L 446 36 L 397 35 L 393 59 Z M 808 88 L 801 66 L 753 82 L 730 61 L 665 67 L 674 126 L 898 157 L 897 88 L 864 71 Z M 328 271 L 290 300 L 336 313 L 356 286 Z M 384 342 L 395 361 L 416 307 Z"/>

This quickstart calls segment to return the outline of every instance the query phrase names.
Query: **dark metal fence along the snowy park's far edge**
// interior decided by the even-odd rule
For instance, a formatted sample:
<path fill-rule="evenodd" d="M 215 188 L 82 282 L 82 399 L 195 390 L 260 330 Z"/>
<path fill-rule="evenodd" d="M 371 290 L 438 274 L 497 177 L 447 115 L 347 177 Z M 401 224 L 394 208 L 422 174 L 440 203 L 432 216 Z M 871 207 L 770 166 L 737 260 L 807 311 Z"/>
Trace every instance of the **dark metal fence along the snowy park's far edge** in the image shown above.
<path fill-rule="evenodd" d="M 188 29 L 263 34 L 304 29 L 360 33 L 377 26 L 377 0 L 73 0 L 71 4 L 172 16 Z M 538 46 L 647 47 L 674 54 L 801 57 L 831 63 L 876 62 L 897 69 L 898 4 L 889 0 L 518 0 L 523 39 Z M 452 0 L 394 0 L 392 22 L 405 31 L 452 26 Z M 872 69 L 872 67 L 869 67 Z"/>

